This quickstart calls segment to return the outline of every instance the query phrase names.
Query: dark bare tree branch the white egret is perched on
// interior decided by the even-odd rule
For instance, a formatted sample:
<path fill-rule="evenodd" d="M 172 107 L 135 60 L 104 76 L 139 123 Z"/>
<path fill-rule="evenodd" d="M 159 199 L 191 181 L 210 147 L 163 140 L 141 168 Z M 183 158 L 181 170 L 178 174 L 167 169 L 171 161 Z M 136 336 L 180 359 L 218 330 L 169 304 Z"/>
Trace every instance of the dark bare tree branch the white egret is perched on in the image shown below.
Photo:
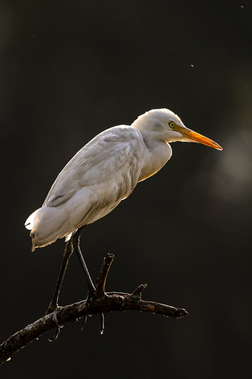
<path fill-rule="evenodd" d="M 186 310 L 181 308 L 174 308 L 165 304 L 141 300 L 141 294 L 146 288 L 146 285 L 140 285 L 132 294 L 117 292 L 105 293 L 105 282 L 113 258 L 113 254 L 107 254 L 104 258 L 100 275 L 97 279 L 96 294 L 89 299 L 88 303 L 84 300 L 72 305 L 60 307 L 57 310 L 57 320 L 60 325 L 64 325 L 69 321 L 75 321 L 81 317 L 86 319 L 87 314 L 93 315 L 95 313 L 100 313 L 102 333 L 104 328 L 103 313 L 132 310 L 151 312 L 173 318 L 181 318 L 188 314 Z M 0 345 L 0 364 L 10 360 L 13 354 L 47 331 L 55 328 L 55 326 L 53 313 L 50 313 L 12 335 Z"/>

